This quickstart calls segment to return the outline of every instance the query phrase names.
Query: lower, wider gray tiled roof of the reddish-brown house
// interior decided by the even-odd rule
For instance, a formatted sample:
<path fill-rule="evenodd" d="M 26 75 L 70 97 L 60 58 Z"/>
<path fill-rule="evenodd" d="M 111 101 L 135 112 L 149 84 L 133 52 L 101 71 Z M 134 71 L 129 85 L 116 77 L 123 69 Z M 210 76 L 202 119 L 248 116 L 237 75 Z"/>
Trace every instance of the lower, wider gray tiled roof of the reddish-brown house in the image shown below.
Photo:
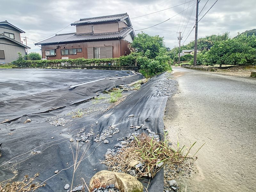
<path fill-rule="evenodd" d="M 45 39 L 44 41 L 35 43 L 35 45 L 62 43 L 62 42 L 75 42 L 75 41 L 91 41 L 91 40 L 99 40 L 99 39 L 124 38 L 130 32 L 132 32 L 132 28 L 124 28 L 119 32 L 111 32 L 111 33 L 97 33 L 97 34 L 66 33 L 66 34 L 59 34 L 59 35 L 56 34 L 55 36 L 49 39 Z"/>

